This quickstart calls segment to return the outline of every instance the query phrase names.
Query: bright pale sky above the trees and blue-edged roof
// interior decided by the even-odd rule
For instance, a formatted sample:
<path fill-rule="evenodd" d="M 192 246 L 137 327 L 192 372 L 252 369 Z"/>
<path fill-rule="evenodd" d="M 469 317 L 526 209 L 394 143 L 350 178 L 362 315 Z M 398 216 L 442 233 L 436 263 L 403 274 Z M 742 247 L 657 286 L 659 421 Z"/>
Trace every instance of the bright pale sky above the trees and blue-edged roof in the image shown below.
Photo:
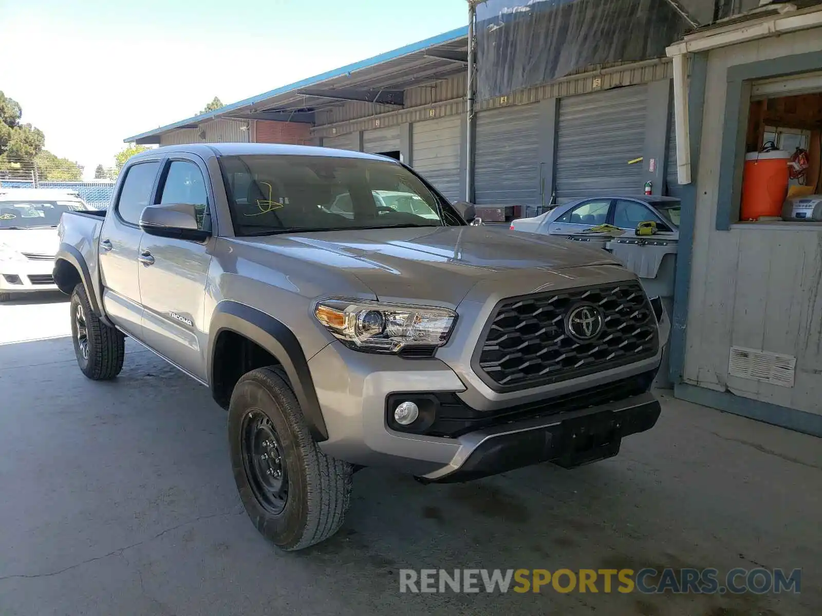
<path fill-rule="evenodd" d="M 0 90 L 94 176 L 122 140 L 467 23 L 465 0 L 0 0 Z"/>

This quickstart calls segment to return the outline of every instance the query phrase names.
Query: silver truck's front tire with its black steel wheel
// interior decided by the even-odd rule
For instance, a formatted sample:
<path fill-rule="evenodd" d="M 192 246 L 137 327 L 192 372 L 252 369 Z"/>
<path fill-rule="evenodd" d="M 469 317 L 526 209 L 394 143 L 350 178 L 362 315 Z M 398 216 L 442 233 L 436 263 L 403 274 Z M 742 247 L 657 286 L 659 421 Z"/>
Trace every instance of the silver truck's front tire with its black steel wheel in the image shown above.
<path fill-rule="evenodd" d="M 297 550 L 339 530 L 351 498 L 351 465 L 317 448 L 278 370 L 252 370 L 234 387 L 229 444 L 240 499 L 266 539 Z"/>

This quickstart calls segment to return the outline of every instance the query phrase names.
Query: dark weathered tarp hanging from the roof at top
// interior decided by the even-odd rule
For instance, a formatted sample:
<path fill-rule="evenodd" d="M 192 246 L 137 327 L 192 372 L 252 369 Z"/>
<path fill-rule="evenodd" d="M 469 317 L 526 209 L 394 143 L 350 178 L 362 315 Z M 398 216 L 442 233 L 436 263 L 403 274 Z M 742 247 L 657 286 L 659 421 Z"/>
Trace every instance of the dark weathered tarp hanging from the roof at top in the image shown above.
<path fill-rule="evenodd" d="M 666 0 L 486 0 L 477 7 L 478 96 L 663 57 L 687 27 Z"/>

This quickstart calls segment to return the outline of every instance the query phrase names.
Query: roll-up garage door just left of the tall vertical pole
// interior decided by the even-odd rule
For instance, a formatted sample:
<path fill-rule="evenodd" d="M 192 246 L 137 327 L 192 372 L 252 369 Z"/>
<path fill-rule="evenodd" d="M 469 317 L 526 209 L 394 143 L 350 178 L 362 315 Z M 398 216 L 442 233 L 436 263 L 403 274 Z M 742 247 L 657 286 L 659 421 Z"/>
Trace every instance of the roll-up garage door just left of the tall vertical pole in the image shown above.
<path fill-rule="evenodd" d="M 459 172 L 459 129 L 461 116 L 414 122 L 412 131 L 413 168 L 448 200 L 463 198 Z"/>

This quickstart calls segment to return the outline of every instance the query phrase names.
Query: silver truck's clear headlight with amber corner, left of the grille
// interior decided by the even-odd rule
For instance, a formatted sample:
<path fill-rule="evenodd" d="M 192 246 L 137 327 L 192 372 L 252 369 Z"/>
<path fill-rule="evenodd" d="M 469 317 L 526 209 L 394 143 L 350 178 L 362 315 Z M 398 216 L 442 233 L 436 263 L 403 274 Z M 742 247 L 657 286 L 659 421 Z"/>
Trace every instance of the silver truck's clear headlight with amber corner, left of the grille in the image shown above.
<path fill-rule="evenodd" d="M 314 315 L 349 347 L 377 353 L 441 347 L 448 342 L 457 318 L 447 308 L 337 298 L 317 303 Z"/>

